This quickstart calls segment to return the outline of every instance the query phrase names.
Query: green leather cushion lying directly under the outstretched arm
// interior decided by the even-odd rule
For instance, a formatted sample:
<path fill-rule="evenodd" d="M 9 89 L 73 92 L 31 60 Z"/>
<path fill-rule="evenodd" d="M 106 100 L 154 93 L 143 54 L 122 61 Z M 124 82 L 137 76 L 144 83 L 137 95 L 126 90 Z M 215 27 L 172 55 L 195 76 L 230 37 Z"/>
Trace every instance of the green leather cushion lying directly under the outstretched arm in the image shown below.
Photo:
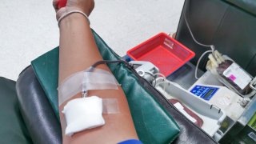
<path fill-rule="evenodd" d="M 93 31 L 96 44 L 105 60 L 120 57 Z M 43 54 L 32 63 L 38 81 L 58 117 L 58 48 Z M 170 143 L 177 138 L 179 128 L 170 114 L 138 82 L 138 78 L 122 64 L 110 64 L 110 70 L 122 84 L 134 120 L 138 137 L 143 143 Z"/>

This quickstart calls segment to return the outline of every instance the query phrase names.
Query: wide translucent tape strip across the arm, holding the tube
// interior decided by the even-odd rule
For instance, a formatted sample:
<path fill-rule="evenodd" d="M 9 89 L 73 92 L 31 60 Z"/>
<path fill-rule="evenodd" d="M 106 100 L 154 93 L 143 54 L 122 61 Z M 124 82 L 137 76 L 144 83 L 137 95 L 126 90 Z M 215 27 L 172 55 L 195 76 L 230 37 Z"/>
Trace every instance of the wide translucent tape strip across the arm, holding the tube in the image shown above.
<path fill-rule="evenodd" d="M 120 86 L 113 74 L 106 70 L 90 67 L 87 70 L 70 75 L 58 86 L 58 105 L 82 91 L 118 90 Z"/>

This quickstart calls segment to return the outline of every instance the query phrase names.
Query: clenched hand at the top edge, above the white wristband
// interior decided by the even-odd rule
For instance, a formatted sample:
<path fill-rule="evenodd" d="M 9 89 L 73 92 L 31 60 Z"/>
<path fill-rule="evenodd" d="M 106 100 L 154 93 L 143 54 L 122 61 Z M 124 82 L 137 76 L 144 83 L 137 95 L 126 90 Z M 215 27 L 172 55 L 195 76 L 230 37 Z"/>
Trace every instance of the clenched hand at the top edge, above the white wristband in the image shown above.
<path fill-rule="evenodd" d="M 54 0 L 53 6 L 56 11 L 56 18 L 60 18 L 62 14 L 69 12 L 70 10 L 80 10 L 87 16 L 94 10 L 94 0 L 67 0 L 66 6 L 58 9 L 58 1 Z"/>

